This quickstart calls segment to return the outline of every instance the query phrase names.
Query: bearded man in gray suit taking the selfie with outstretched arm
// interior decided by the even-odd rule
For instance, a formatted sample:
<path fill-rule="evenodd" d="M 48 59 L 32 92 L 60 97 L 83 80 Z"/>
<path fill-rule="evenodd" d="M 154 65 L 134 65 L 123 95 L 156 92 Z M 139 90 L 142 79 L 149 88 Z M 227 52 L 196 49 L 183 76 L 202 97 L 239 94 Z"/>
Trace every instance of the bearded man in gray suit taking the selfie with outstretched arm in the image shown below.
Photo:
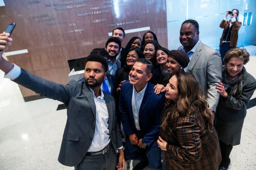
<path fill-rule="evenodd" d="M 11 45 L 10 34 L 0 34 L 0 50 Z M 124 169 L 124 151 L 115 116 L 115 100 L 100 89 L 108 65 L 100 55 L 89 55 L 85 61 L 85 82 L 74 80 L 67 85 L 47 81 L 9 63 L 0 51 L 0 70 L 40 96 L 63 102 L 67 123 L 63 133 L 59 162 L 76 170 Z M 117 163 L 117 153 L 119 159 Z"/>

